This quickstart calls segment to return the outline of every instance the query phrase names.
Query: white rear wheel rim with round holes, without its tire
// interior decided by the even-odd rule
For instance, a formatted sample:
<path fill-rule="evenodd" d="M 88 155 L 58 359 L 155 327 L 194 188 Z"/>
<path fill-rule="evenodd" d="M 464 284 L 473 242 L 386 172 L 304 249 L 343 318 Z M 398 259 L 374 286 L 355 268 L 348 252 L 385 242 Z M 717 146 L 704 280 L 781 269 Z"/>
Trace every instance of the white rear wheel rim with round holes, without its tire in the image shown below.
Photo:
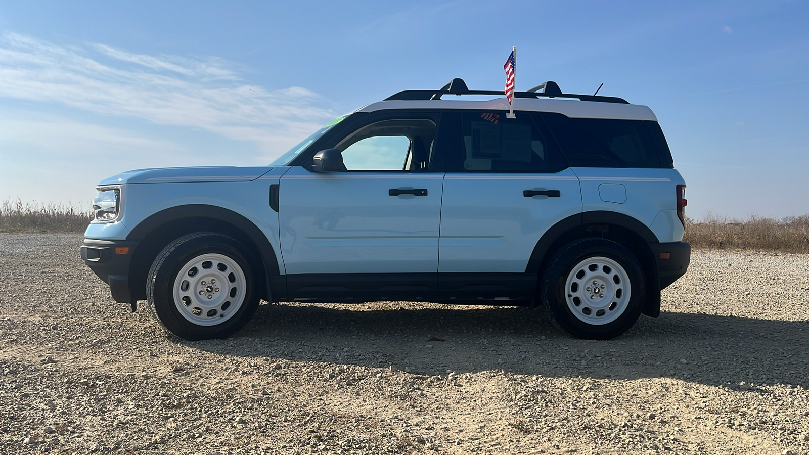
<path fill-rule="evenodd" d="M 629 307 L 632 286 L 624 267 L 609 257 L 588 257 L 567 275 L 565 301 L 579 321 L 604 325 Z"/>

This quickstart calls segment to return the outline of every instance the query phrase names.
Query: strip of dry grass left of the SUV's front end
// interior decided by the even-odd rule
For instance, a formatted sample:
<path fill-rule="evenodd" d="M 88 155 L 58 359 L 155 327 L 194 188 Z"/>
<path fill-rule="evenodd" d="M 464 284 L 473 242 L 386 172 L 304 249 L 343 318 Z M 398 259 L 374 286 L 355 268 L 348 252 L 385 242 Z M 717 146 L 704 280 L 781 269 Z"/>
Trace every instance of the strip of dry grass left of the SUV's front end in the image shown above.
<path fill-rule="evenodd" d="M 0 205 L 0 232 L 84 232 L 91 219 L 90 211 L 72 205 L 23 204 L 19 199 Z"/>

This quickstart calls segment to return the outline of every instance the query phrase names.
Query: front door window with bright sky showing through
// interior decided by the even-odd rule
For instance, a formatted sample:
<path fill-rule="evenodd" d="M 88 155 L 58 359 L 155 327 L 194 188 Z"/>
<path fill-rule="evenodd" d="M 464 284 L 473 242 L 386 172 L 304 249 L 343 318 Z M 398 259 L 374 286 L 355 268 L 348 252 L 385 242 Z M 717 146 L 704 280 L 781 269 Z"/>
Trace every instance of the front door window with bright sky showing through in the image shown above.
<path fill-rule="evenodd" d="M 426 171 L 435 123 L 386 120 L 366 125 L 337 144 L 349 171 Z"/>

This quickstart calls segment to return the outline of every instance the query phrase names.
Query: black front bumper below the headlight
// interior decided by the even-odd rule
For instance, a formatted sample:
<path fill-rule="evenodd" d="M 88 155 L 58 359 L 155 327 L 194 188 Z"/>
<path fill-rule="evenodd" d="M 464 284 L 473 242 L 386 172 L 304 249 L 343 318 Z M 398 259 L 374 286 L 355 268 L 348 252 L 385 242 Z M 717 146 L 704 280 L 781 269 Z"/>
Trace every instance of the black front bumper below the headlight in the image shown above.
<path fill-rule="evenodd" d="M 109 285 L 112 298 L 122 304 L 133 303 L 129 287 L 129 264 L 138 240 L 84 239 L 82 259 L 99 278 Z"/>

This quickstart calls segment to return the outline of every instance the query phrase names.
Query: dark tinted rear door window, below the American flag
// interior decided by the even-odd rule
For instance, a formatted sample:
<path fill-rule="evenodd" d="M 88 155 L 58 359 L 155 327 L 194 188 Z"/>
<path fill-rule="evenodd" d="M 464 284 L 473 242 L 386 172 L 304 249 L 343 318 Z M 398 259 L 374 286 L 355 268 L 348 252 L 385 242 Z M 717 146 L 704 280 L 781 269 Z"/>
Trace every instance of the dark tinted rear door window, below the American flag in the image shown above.
<path fill-rule="evenodd" d="M 532 113 L 517 113 L 515 119 L 498 112 L 463 113 L 460 136 L 448 172 L 558 172 L 566 167 Z"/>

